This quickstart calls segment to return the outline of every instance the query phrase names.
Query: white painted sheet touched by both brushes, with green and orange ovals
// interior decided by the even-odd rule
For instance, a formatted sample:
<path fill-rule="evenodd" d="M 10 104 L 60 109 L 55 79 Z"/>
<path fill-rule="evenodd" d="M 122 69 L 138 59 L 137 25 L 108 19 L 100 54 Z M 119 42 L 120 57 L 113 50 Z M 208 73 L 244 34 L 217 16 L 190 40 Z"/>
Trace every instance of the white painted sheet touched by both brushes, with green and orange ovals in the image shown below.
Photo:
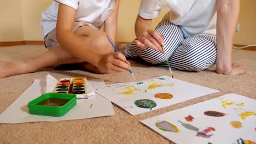
<path fill-rule="evenodd" d="M 172 79 L 168 76 L 139 82 L 107 85 L 104 88 L 97 88 L 95 91 L 131 113 L 131 115 L 138 115 L 150 110 L 160 109 L 189 99 L 219 92 L 215 89 Z M 154 97 L 155 94 L 159 93 L 166 93 L 167 96 L 164 98 L 171 98 L 172 96 L 173 98 L 161 99 Z M 141 99 L 147 99 L 142 101 L 141 105 L 145 105 L 145 102 L 148 102 L 148 108 L 136 106 L 136 101 Z"/>

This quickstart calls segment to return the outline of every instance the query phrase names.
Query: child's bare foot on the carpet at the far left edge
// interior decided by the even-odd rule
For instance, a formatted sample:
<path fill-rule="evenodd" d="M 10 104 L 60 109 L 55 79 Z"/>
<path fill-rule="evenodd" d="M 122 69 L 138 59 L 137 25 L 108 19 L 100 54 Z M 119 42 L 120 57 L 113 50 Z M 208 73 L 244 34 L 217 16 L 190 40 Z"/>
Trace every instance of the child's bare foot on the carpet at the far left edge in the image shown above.
<path fill-rule="evenodd" d="M 37 71 L 28 67 L 22 61 L 1 61 L 0 62 L 0 79 L 12 75 L 26 74 Z"/>

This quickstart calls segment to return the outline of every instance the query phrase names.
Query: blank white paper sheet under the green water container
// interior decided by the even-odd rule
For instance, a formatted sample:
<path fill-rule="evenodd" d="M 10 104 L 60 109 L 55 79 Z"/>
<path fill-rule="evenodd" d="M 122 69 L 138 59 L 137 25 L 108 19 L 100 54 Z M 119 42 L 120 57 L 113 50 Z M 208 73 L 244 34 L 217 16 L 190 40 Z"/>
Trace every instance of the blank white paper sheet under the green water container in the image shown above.
<path fill-rule="evenodd" d="M 103 81 L 89 81 L 91 86 L 96 88 L 104 86 Z M 53 85 L 55 87 L 55 85 Z M 101 116 L 112 116 L 114 110 L 111 102 L 101 97 L 101 95 L 94 95 L 88 99 L 77 100 L 77 105 L 73 107 L 66 115 L 62 117 L 38 116 L 30 115 L 27 104 L 29 101 L 39 97 L 45 92 L 46 81 L 35 80 L 33 84 L 20 95 L 4 112 L 0 115 L 0 123 L 25 123 L 25 122 L 41 122 L 41 121 L 65 121 L 72 119 L 85 119 Z M 92 104 L 92 107 L 90 108 Z"/>

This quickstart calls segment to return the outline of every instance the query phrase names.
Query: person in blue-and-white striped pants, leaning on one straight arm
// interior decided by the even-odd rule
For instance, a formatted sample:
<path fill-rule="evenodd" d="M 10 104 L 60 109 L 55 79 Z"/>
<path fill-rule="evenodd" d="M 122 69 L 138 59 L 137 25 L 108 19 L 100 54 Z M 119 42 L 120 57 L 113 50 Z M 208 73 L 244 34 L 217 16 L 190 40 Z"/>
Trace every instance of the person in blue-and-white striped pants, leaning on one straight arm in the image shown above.
<path fill-rule="evenodd" d="M 170 12 L 150 29 L 164 7 Z M 201 71 L 216 63 L 219 74 L 245 74 L 242 65 L 231 60 L 239 7 L 238 0 L 142 0 L 135 24 L 137 39 L 123 53 L 168 67 L 163 46 L 172 69 Z"/>

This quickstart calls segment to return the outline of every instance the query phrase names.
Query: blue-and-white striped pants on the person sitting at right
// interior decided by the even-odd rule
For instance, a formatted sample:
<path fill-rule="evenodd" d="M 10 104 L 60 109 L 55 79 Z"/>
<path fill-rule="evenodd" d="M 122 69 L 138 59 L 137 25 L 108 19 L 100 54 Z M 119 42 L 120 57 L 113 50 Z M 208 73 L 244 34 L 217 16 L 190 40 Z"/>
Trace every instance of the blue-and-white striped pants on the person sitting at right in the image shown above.
<path fill-rule="evenodd" d="M 185 38 L 181 28 L 167 20 L 161 21 L 156 31 L 164 35 L 163 48 L 172 69 L 201 71 L 210 68 L 216 62 L 215 36 L 199 34 Z M 150 47 L 141 49 L 134 41 L 126 47 L 124 55 L 127 58 L 141 57 L 144 61 L 168 68 L 163 53 Z"/>

